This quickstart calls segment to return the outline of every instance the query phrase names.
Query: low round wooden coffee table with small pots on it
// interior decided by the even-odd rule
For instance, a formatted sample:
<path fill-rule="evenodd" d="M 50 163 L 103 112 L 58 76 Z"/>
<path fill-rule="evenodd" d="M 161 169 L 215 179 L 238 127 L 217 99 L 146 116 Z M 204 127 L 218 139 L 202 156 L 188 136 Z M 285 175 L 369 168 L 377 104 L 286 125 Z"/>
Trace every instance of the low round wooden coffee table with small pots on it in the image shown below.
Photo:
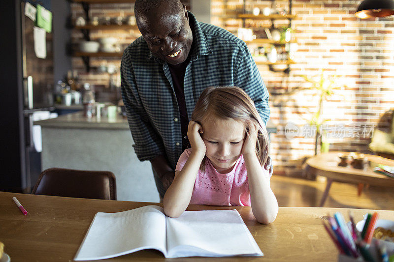
<path fill-rule="evenodd" d="M 373 171 L 368 164 L 364 165 L 364 169 L 352 168 L 350 165 L 346 167 L 338 166 L 340 159 L 338 154 L 348 152 L 328 152 L 321 153 L 306 161 L 306 169 L 308 173 L 327 177 L 327 185 L 324 191 L 320 207 L 324 205 L 328 197 L 328 191 L 333 181 L 346 182 L 354 184 L 370 184 L 376 186 L 394 186 L 394 178 L 382 175 Z M 364 154 L 368 161 L 388 166 L 394 166 L 394 160 L 383 158 L 377 155 Z"/>

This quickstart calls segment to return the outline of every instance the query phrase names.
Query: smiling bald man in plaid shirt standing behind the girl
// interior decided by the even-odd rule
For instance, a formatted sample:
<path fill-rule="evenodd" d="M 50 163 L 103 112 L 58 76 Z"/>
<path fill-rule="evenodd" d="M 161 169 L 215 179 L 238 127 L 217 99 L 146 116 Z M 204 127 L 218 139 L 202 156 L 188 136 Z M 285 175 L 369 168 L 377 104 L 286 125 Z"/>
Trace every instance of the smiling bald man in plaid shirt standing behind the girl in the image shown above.
<path fill-rule="evenodd" d="M 198 23 L 179 0 L 136 0 L 134 15 L 142 37 L 123 54 L 122 97 L 135 153 L 151 162 L 163 198 L 189 145 L 188 122 L 202 90 L 243 88 L 265 123 L 268 91 L 246 44 L 225 29 Z"/>

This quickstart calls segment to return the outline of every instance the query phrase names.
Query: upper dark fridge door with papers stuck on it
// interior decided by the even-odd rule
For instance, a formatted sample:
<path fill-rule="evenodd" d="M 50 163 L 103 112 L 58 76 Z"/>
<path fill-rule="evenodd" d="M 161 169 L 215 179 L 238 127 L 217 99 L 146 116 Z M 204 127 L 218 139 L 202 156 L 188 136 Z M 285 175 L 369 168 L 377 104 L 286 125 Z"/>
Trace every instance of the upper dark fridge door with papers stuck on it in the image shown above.
<path fill-rule="evenodd" d="M 46 58 L 34 52 L 34 22 L 25 16 L 25 2 L 21 2 L 22 72 L 24 109 L 53 106 L 53 46 L 52 33 L 46 33 Z"/>

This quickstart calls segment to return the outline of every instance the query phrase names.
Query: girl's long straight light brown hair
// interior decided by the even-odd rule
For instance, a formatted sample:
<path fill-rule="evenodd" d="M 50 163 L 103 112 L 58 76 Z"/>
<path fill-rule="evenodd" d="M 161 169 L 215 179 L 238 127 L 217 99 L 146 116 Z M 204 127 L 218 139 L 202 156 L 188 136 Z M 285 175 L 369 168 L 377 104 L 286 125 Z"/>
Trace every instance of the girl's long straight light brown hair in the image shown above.
<path fill-rule="evenodd" d="M 259 128 L 256 155 L 261 166 L 265 165 L 269 153 L 269 139 L 265 124 L 253 100 L 239 87 L 207 87 L 198 98 L 192 120 L 201 124 L 210 118 L 252 121 Z M 206 156 L 205 156 L 206 157 Z M 205 159 L 200 169 L 205 170 Z"/>

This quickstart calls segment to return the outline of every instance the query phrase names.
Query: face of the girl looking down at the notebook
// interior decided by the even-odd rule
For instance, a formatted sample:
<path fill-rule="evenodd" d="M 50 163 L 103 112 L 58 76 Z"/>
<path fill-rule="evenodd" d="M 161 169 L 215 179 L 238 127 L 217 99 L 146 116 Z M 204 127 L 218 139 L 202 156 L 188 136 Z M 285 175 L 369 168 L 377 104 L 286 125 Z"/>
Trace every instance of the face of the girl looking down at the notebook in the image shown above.
<path fill-rule="evenodd" d="M 216 171 L 229 173 L 241 156 L 245 138 L 245 125 L 233 119 L 211 118 L 201 123 L 205 155 Z"/>

